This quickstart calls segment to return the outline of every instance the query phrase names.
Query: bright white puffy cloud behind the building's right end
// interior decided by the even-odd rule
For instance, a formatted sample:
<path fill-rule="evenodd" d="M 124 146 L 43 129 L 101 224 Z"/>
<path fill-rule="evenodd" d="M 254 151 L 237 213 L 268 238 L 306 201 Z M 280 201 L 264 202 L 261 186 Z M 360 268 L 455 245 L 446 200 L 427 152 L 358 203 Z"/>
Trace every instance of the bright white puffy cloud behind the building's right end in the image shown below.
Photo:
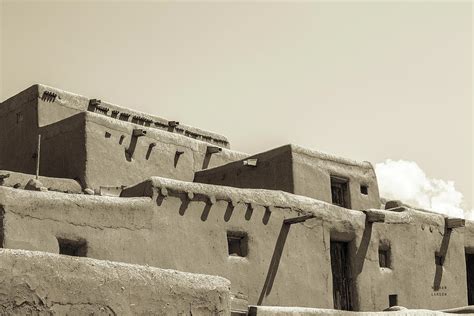
<path fill-rule="evenodd" d="M 412 161 L 386 160 L 375 165 L 380 196 L 453 217 L 474 219 L 461 208 L 463 195 L 453 181 L 432 179 Z"/>

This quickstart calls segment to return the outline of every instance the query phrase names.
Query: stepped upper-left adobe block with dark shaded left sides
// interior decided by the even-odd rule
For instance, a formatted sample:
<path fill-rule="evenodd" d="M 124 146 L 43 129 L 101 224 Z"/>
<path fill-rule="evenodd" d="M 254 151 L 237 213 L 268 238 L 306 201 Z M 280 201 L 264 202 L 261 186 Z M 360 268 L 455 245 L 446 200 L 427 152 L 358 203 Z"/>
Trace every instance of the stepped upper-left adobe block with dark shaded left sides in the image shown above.
<path fill-rule="evenodd" d="M 77 179 L 84 188 L 96 191 L 101 186 L 121 188 L 150 176 L 192 181 L 197 170 L 247 156 L 226 148 L 208 154 L 207 147 L 215 146 L 214 143 L 228 147 L 225 138 L 217 134 L 190 127 L 183 127 L 180 132 L 181 125 L 171 132 L 161 125 L 139 125 L 132 123 L 134 115 L 126 122 L 110 115 L 117 109 L 120 113 L 127 109 L 110 105 L 116 110 L 109 109 L 109 115 L 105 115 L 88 111 L 88 104 L 85 97 L 43 85 L 32 86 L 3 102 L 0 170 L 35 174 L 38 134 L 41 134 L 40 175 Z M 131 145 L 134 129 L 143 129 L 148 134 L 136 139 L 130 158 L 126 149 Z M 208 136 L 214 137 L 214 141 L 207 139 Z"/>

